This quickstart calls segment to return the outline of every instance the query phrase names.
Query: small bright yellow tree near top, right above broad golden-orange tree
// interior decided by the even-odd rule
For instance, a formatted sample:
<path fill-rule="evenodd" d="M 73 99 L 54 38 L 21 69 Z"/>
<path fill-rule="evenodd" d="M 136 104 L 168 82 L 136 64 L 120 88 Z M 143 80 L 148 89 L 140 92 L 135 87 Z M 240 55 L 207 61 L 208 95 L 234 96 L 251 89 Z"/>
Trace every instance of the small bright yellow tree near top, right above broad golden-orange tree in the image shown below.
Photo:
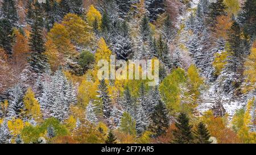
<path fill-rule="evenodd" d="M 101 13 L 93 5 L 90 5 L 89 10 L 86 14 L 86 20 L 90 27 L 93 27 L 93 22 L 97 20 L 98 28 L 101 25 Z"/>

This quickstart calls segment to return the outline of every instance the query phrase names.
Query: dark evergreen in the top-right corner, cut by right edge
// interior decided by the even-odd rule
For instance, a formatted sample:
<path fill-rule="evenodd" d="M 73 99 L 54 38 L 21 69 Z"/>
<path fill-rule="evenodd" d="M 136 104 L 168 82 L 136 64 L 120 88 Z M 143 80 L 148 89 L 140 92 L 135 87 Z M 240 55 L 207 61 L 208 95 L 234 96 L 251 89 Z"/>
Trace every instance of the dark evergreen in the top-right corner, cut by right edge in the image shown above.
<path fill-rule="evenodd" d="M 242 11 L 240 12 L 239 19 L 243 24 L 245 31 L 249 33 L 250 36 L 255 37 L 256 35 L 256 1 L 246 0 L 242 6 Z"/>

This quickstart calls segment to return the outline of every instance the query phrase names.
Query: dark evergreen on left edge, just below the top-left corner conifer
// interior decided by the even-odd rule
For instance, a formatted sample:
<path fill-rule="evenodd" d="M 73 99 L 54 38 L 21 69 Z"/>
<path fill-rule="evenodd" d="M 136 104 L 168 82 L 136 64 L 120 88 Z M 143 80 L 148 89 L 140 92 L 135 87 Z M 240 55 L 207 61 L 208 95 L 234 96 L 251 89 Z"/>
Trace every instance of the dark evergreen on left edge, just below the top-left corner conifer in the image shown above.
<path fill-rule="evenodd" d="M 7 55 L 13 54 L 13 28 L 6 18 L 0 19 L 0 47 L 5 49 Z"/>

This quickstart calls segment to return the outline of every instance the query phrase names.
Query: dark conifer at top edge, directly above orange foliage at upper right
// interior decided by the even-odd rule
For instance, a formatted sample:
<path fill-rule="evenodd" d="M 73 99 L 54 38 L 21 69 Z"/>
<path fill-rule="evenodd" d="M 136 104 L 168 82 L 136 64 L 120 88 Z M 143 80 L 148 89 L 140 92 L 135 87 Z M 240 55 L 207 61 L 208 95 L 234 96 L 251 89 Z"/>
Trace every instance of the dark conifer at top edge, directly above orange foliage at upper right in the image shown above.
<path fill-rule="evenodd" d="M 209 23 L 214 24 L 216 22 L 217 16 L 226 15 L 226 5 L 224 0 L 217 0 L 209 5 Z"/>

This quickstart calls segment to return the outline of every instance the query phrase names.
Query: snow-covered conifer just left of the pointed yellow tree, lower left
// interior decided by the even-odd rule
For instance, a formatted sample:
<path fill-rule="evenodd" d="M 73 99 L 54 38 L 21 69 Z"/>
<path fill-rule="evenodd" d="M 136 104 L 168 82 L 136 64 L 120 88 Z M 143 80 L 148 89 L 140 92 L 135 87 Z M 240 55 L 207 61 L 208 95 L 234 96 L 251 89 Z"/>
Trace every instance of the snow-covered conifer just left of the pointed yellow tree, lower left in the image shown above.
<path fill-rule="evenodd" d="M 22 116 L 23 105 L 23 90 L 20 84 L 15 85 L 10 89 L 8 93 L 8 113 L 7 116 L 10 118 L 19 118 Z"/>

